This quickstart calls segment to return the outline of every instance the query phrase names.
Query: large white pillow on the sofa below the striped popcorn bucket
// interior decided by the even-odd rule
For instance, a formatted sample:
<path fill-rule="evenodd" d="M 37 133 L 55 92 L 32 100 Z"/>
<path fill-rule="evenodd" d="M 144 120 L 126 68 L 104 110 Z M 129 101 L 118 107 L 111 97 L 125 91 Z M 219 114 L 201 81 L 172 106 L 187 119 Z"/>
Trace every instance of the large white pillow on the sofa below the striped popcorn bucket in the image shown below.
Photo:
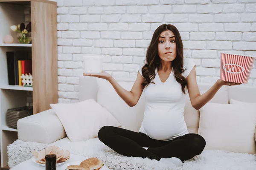
<path fill-rule="evenodd" d="M 207 103 L 199 111 L 198 134 L 206 140 L 206 150 L 256 153 L 253 106 Z"/>

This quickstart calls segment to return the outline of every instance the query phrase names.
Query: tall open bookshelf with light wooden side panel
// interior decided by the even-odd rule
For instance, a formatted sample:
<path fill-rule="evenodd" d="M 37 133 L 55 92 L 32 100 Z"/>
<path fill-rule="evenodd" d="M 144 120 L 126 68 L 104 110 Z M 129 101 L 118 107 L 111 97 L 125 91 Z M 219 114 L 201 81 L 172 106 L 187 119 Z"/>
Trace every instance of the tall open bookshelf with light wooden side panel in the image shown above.
<path fill-rule="evenodd" d="M 24 9 L 30 8 L 32 44 L 20 44 L 10 26 L 25 21 Z M 32 91 L 33 114 L 58 103 L 57 3 L 48 0 L 0 0 L 0 157 L 1 167 L 8 162 L 7 146 L 17 137 L 17 129 L 6 124 L 6 111 L 26 105 Z M 3 37 L 12 35 L 12 44 Z M 9 85 L 6 51 L 28 51 L 32 54 L 33 87 Z"/>

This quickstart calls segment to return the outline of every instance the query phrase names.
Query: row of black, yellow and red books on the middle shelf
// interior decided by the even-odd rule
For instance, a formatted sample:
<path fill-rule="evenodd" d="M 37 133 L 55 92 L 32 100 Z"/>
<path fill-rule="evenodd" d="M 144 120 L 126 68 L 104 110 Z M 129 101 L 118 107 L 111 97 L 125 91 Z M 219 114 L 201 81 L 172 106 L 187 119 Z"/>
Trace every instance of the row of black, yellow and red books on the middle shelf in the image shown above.
<path fill-rule="evenodd" d="M 28 51 L 7 51 L 9 85 L 23 85 L 20 76 L 32 75 L 32 56 Z"/>

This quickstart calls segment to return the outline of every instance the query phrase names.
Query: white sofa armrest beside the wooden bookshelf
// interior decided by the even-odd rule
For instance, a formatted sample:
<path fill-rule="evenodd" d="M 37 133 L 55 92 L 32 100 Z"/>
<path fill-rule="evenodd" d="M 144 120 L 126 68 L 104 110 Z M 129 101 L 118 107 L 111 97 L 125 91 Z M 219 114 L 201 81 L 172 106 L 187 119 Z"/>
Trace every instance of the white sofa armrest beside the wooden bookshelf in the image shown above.
<path fill-rule="evenodd" d="M 24 142 L 52 143 L 67 136 L 53 109 L 19 119 L 17 130 Z"/>

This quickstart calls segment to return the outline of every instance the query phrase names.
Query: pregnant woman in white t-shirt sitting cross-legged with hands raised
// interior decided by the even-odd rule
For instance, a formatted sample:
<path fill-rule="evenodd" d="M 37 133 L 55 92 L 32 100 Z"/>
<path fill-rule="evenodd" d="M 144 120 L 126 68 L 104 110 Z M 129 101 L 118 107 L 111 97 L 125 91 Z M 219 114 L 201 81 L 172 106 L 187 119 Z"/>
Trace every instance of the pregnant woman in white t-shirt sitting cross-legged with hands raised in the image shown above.
<path fill-rule="evenodd" d="M 99 140 L 124 156 L 155 159 L 170 166 L 172 163 L 181 166 L 183 161 L 201 154 L 206 145 L 202 136 L 187 130 L 183 115 L 187 92 L 192 106 L 200 109 L 222 85 L 239 85 L 218 79 L 207 92 L 200 94 L 195 64 L 183 57 L 180 33 L 170 24 L 154 31 L 131 91 L 122 88 L 105 71 L 84 76 L 107 79 L 131 107 L 145 90 L 146 105 L 139 132 L 104 126 L 99 130 Z"/>

